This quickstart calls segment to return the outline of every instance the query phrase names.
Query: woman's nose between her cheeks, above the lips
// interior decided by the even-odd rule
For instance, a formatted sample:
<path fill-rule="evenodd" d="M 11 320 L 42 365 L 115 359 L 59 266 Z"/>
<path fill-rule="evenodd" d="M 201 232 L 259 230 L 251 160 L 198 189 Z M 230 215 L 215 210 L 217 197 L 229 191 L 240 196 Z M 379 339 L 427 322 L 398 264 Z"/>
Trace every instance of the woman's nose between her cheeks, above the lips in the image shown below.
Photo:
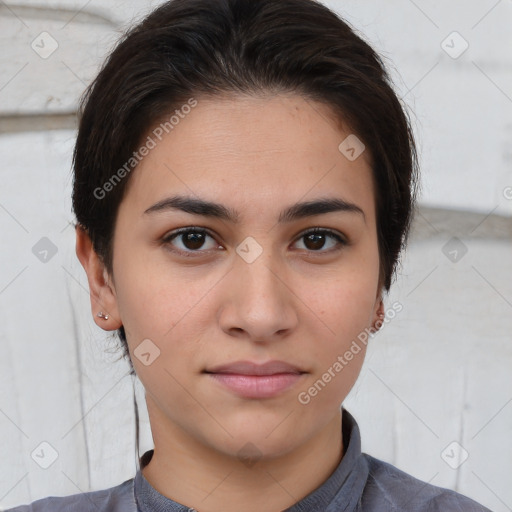
<path fill-rule="evenodd" d="M 290 272 L 265 249 L 254 261 L 236 255 L 226 276 L 219 316 L 220 327 L 230 336 L 253 342 L 276 341 L 289 335 L 298 323 L 298 298 Z"/>

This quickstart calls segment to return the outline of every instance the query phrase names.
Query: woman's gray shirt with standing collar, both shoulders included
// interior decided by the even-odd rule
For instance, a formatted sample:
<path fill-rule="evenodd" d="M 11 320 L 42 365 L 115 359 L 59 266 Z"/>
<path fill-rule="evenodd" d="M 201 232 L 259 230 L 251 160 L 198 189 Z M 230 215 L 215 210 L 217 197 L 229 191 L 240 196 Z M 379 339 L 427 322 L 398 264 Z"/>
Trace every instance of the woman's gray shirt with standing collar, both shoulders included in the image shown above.
<path fill-rule="evenodd" d="M 286 512 L 491 512 L 454 491 L 437 487 L 361 453 L 354 417 L 343 409 L 345 453 L 332 475 Z M 153 455 L 141 457 L 143 468 Z M 154 489 L 138 470 L 134 478 L 101 491 L 48 497 L 7 512 L 197 512 Z M 200 511 L 199 511 L 200 512 Z"/>

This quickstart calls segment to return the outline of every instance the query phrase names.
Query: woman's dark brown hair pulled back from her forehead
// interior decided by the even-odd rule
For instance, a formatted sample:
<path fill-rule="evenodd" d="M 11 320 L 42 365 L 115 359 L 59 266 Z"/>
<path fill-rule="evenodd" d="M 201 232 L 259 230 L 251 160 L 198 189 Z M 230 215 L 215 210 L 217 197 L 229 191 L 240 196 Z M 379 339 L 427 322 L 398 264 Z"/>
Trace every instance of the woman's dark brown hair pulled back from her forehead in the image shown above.
<path fill-rule="evenodd" d="M 82 99 L 73 160 L 77 222 L 110 274 L 119 203 L 148 131 L 192 97 L 278 93 L 328 105 L 370 151 L 389 291 L 418 181 L 409 118 L 381 57 L 314 0 L 169 1 L 110 53 Z M 118 335 L 128 356 L 124 327 Z"/>

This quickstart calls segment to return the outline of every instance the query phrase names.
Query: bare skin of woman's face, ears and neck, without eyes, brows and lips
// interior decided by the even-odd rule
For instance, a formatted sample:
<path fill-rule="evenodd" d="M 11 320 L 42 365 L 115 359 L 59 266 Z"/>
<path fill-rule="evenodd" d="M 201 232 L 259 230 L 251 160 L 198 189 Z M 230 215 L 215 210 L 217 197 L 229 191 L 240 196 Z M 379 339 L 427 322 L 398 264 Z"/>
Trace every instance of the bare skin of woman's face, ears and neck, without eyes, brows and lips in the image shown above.
<path fill-rule="evenodd" d="M 307 405 L 299 393 L 383 314 L 370 155 L 349 161 L 338 146 L 350 130 L 328 107 L 300 96 L 197 100 L 132 171 L 113 275 L 79 228 L 76 252 L 96 323 L 124 325 L 146 390 L 155 453 L 144 476 L 201 512 L 278 511 L 339 464 L 340 404 L 359 375 L 364 345 Z M 221 203 L 239 221 L 144 214 L 175 194 Z M 355 203 L 364 216 L 339 211 L 278 223 L 287 206 L 319 198 Z M 162 241 L 182 227 L 212 236 L 202 246 L 180 236 Z M 332 229 L 348 244 L 330 235 L 308 242 L 303 235 L 312 228 Z M 262 249 L 251 263 L 236 252 L 247 237 Z M 108 320 L 96 317 L 100 310 Z M 160 350 L 149 365 L 134 354 L 145 339 Z M 204 373 L 275 359 L 305 373 L 271 398 L 240 397 Z"/>

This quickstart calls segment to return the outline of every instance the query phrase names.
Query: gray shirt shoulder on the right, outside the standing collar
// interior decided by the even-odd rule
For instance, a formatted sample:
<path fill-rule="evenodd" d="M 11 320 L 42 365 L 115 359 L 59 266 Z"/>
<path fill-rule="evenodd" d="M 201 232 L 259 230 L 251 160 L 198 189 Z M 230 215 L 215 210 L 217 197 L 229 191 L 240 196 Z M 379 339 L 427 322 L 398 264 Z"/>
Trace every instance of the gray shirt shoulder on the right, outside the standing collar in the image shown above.
<path fill-rule="evenodd" d="M 423 482 L 366 453 L 363 456 L 369 468 L 363 510 L 377 511 L 387 504 L 389 512 L 491 512 L 463 494 Z"/>

